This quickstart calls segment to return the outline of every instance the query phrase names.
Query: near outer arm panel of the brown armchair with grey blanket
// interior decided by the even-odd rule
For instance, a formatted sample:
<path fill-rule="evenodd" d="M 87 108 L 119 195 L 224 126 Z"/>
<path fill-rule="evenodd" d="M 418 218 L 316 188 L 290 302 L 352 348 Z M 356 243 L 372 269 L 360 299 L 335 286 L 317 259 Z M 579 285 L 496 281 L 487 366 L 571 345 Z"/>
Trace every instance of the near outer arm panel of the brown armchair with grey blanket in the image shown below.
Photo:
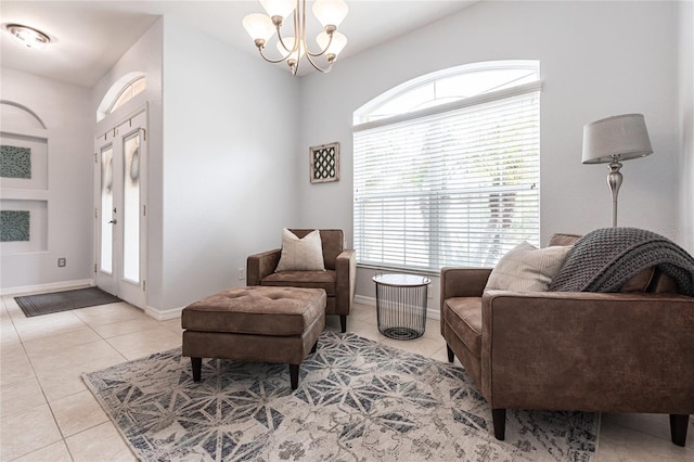
<path fill-rule="evenodd" d="M 492 408 L 694 413 L 694 298 L 487 292 L 483 394 Z"/>

